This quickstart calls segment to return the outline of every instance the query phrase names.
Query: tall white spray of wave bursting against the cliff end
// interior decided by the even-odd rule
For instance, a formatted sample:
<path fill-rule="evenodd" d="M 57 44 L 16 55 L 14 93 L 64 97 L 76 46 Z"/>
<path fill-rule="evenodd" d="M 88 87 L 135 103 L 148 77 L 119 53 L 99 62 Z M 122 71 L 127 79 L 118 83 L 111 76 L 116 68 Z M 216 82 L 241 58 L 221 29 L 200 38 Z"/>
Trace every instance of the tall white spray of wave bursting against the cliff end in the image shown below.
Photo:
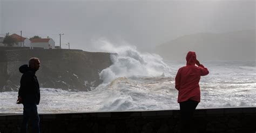
<path fill-rule="evenodd" d="M 100 51 L 116 53 L 111 55 L 113 64 L 99 73 L 105 84 L 119 77 L 170 76 L 171 69 L 159 55 L 140 53 L 127 43 L 114 46 L 104 39 L 98 40 L 96 46 Z"/>

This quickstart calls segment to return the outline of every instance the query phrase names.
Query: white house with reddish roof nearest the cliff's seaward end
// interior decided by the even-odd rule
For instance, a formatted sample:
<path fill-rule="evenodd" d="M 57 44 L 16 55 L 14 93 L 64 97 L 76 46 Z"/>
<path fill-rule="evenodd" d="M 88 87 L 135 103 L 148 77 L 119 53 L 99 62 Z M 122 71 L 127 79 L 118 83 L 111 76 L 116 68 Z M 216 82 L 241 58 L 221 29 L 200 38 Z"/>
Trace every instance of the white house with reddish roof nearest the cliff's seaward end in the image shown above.
<path fill-rule="evenodd" d="M 31 47 L 41 47 L 44 49 L 55 49 L 55 41 L 51 38 L 43 38 L 43 39 L 30 39 Z"/>

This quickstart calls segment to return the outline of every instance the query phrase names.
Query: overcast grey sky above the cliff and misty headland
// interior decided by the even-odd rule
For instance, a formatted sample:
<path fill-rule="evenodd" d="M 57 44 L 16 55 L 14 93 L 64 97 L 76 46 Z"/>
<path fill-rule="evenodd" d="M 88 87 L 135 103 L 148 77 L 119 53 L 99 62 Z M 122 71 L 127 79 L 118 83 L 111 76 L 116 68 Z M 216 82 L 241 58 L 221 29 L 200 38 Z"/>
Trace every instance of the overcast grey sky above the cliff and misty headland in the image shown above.
<path fill-rule="evenodd" d="M 62 47 L 95 50 L 104 38 L 148 50 L 181 35 L 255 29 L 255 1 L 0 0 L 0 34 L 50 36 Z"/>

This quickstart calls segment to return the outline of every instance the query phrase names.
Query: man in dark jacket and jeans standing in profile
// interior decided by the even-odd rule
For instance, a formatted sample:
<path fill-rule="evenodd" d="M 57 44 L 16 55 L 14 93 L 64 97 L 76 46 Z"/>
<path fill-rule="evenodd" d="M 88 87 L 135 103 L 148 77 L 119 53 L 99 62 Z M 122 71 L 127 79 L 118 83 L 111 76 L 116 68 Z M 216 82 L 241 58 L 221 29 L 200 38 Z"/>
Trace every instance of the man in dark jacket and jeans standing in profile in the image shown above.
<path fill-rule="evenodd" d="M 23 73 L 21 86 L 19 87 L 17 104 L 23 104 L 23 121 L 21 132 L 28 132 L 28 122 L 32 122 L 33 132 L 39 131 L 39 116 L 37 105 L 40 101 L 39 84 L 36 77 L 36 71 L 40 67 L 38 58 L 30 58 L 29 66 L 22 65 L 19 71 Z"/>

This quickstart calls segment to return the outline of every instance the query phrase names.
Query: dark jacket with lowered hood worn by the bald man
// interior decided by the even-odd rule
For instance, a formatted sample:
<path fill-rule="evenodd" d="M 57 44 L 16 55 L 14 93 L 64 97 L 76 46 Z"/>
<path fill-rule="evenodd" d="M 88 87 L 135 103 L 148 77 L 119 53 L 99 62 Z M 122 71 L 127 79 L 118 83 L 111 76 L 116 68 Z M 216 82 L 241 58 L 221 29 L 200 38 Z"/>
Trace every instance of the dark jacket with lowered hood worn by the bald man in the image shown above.
<path fill-rule="evenodd" d="M 36 77 L 36 70 L 22 65 L 19 72 L 23 73 L 21 78 L 21 86 L 19 87 L 18 97 L 22 98 L 22 104 L 39 104 L 40 90 Z"/>

